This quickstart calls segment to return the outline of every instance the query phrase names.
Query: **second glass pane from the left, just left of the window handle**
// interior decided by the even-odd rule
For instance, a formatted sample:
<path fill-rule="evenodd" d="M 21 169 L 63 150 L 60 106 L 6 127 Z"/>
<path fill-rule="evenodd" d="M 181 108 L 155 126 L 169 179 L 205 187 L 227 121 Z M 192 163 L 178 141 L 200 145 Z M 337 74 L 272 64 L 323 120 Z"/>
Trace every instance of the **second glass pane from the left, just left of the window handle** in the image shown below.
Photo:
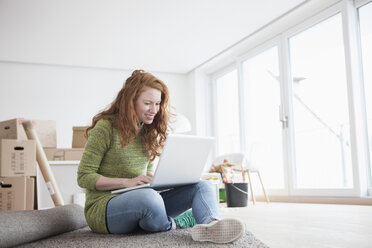
<path fill-rule="evenodd" d="M 246 152 L 252 166 L 260 168 L 265 186 L 284 188 L 277 47 L 246 60 L 243 75 L 247 110 Z"/>

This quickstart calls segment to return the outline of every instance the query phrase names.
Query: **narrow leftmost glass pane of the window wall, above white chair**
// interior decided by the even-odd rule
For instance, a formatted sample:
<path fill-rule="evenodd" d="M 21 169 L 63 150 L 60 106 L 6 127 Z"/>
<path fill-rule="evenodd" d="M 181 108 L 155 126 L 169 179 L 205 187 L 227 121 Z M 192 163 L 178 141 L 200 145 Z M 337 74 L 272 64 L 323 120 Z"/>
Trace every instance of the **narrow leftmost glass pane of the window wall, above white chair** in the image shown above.
<path fill-rule="evenodd" d="M 238 73 L 216 80 L 218 153 L 240 152 Z"/>

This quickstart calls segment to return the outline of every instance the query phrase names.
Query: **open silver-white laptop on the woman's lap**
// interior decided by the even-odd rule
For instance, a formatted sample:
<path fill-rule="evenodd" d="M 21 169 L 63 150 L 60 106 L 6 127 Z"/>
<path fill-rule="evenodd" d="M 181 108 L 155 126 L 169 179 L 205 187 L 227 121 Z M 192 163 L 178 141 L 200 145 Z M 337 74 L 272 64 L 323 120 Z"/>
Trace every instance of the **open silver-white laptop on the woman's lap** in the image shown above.
<path fill-rule="evenodd" d="M 112 194 L 150 187 L 164 190 L 197 183 L 204 170 L 214 144 L 213 137 L 194 135 L 168 135 L 150 184 L 117 189 Z"/>

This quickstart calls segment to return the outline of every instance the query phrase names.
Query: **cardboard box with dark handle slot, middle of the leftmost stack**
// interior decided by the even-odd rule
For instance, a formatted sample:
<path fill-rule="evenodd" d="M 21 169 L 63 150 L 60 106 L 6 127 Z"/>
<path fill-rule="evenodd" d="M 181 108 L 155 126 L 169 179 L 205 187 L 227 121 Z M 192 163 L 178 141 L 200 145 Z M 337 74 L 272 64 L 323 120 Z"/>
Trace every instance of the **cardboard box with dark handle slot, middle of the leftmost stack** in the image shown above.
<path fill-rule="evenodd" d="M 0 177 L 36 176 L 34 140 L 0 140 Z"/>

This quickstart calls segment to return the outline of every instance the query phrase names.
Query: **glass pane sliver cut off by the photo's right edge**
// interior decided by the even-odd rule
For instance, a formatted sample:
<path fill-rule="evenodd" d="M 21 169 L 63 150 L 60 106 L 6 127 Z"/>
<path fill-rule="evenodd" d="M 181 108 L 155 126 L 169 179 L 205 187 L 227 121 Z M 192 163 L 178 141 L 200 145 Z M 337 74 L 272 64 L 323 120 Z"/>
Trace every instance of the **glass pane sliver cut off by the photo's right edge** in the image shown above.
<path fill-rule="evenodd" d="M 362 45 L 363 79 L 366 98 L 368 140 L 369 140 L 369 173 L 372 187 L 372 3 L 359 8 L 360 40 Z"/>

